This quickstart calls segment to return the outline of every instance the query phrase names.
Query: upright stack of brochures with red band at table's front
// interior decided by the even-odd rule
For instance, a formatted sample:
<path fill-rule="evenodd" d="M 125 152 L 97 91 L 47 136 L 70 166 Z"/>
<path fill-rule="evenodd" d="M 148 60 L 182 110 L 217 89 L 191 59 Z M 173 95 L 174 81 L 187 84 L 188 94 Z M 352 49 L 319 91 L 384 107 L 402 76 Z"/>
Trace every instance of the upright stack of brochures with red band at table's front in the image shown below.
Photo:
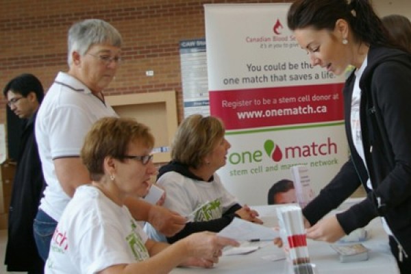
<path fill-rule="evenodd" d="M 282 229 L 283 242 L 288 244 L 289 261 L 295 274 L 314 273 L 308 256 L 306 230 L 303 214 L 299 206 L 277 208 L 279 227 Z"/>

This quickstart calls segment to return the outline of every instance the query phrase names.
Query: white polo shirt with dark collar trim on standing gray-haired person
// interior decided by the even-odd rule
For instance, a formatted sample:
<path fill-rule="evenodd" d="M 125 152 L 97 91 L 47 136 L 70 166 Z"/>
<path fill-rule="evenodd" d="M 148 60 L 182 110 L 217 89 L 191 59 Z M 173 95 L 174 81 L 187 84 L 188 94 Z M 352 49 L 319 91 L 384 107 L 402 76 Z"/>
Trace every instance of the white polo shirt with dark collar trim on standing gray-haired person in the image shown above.
<path fill-rule="evenodd" d="M 38 153 L 47 183 L 40 208 L 55 221 L 59 221 L 70 197 L 58 182 L 53 159 L 79 157 L 84 136 L 95 121 L 106 116 L 117 114 L 82 82 L 66 73 L 58 73 L 40 105 L 35 126 Z"/>

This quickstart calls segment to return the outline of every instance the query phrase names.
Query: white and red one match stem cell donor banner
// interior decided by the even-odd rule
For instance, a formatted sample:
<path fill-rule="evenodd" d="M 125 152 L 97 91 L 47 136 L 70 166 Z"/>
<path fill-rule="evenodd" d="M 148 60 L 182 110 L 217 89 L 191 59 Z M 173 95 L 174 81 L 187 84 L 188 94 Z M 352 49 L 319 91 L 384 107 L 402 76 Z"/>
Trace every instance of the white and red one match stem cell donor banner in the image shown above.
<path fill-rule="evenodd" d="M 210 113 L 232 145 L 218 173 L 249 205 L 266 204 L 295 165 L 318 193 L 348 159 L 344 77 L 310 65 L 287 27 L 289 5 L 204 5 Z"/>

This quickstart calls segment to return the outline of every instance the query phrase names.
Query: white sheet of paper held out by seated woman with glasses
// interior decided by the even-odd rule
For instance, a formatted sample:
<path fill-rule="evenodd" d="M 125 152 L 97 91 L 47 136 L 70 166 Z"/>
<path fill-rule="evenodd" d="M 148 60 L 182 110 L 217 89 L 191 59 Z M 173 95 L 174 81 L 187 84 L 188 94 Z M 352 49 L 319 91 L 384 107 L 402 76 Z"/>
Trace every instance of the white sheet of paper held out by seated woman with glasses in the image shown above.
<path fill-rule="evenodd" d="M 240 218 L 234 218 L 233 221 L 224 227 L 217 235 L 232 238 L 234 240 L 273 240 L 279 237 L 279 232 L 271 227 L 264 227 Z"/>

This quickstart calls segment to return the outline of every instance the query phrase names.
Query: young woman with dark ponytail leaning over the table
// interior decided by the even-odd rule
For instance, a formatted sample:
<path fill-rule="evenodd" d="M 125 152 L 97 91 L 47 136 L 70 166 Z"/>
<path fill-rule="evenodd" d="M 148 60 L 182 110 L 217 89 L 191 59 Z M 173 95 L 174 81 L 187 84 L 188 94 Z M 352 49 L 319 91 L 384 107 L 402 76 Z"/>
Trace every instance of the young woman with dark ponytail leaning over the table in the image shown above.
<path fill-rule="evenodd" d="M 411 56 L 369 0 L 297 0 L 288 27 L 312 66 L 356 68 L 343 90 L 351 157 L 303 209 L 307 236 L 334 242 L 381 216 L 401 273 L 411 273 Z M 323 218 L 360 185 L 366 199 Z"/>

